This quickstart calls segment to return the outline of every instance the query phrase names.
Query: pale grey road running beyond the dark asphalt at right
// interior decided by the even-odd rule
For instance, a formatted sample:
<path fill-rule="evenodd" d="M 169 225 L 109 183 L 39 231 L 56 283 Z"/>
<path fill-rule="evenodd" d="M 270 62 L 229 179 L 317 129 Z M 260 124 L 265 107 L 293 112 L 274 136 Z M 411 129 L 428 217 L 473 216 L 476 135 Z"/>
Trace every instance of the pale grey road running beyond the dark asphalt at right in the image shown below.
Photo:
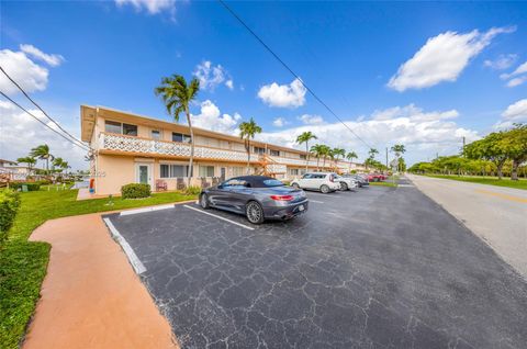
<path fill-rule="evenodd" d="M 527 279 L 527 191 L 424 176 L 407 178 Z"/>

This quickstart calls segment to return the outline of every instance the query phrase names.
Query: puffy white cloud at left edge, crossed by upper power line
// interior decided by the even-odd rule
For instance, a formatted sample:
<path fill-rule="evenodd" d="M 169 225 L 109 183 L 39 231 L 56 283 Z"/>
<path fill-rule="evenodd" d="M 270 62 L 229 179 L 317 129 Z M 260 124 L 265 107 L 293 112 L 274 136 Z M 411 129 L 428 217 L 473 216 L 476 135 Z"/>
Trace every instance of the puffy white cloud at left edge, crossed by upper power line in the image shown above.
<path fill-rule="evenodd" d="M 0 50 L 0 66 L 26 92 L 46 89 L 49 71 L 27 58 L 23 52 Z M 7 94 L 19 92 L 19 89 L 3 74 L 0 74 L 0 90 Z"/>

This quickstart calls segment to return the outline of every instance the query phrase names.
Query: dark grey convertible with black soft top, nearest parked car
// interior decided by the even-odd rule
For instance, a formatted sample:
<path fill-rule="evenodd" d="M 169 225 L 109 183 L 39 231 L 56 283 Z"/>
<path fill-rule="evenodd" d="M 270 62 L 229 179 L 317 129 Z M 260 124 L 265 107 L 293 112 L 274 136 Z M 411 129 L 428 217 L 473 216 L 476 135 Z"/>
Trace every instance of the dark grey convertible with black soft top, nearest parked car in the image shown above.
<path fill-rule="evenodd" d="M 274 178 L 243 176 L 203 189 L 200 205 L 204 210 L 215 207 L 245 214 L 250 223 L 260 224 L 305 213 L 309 201 L 303 190 L 287 187 Z"/>

